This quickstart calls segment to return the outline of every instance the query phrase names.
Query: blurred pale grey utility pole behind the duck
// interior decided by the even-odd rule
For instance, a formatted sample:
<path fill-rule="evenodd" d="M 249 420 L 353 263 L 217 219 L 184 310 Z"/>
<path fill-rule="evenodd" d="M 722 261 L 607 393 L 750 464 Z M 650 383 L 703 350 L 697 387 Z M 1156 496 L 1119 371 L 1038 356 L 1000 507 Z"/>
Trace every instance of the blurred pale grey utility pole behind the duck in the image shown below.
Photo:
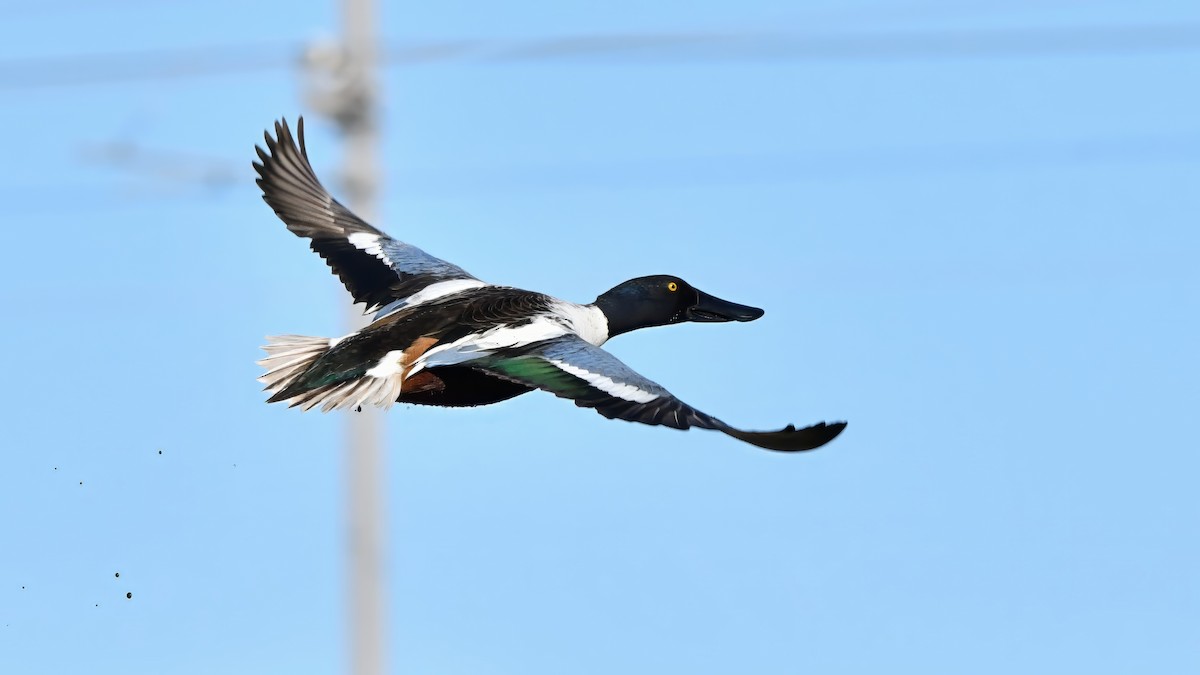
<path fill-rule="evenodd" d="M 378 64 L 376 0 L 341 0 L 341 43 L 317 46 L 306 65 L 313 83 L 310 103 L 332 119 L 346 142 L 342 190 L 347 205 L 367 222 L 377 220 L 379 179 Z M 350 329 L 367 323 L 353 304 Z M 347 492 L 347 646 L 352 675 L 386 670 L 384 608 L 384 466 L 383 419 L 364 408 L 348 416 L 346 436 Z"/>

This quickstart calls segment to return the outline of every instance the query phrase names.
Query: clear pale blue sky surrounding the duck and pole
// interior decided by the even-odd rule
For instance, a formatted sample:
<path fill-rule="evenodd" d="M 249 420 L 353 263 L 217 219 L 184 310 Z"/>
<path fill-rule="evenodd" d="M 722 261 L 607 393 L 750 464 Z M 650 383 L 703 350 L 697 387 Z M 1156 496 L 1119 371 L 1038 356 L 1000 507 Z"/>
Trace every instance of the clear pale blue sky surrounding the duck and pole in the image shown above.
<path fill-rule="evenodd" d="M 392 410 L 392 670 L 1200 669 L 1194 2 L 440 2 L 379 30 L 1147 25 L 1190 47 L 389 67 L 382 227 L 577 301 L 671 273 L 762 306 L 608 348 L 734 424 L 850 420 L 779 455 L 548 395 Z M 336 30 L 332 5 L 229 0 L 0 28 L 0 670 L 344 669 L 343 419 L 266 406 L 253 363 L 342 331 L 250 169 L 304 113 L 336 185 L 332 127 L 290 67 L 12 85 L 36 58 L 280 59 Z"/>

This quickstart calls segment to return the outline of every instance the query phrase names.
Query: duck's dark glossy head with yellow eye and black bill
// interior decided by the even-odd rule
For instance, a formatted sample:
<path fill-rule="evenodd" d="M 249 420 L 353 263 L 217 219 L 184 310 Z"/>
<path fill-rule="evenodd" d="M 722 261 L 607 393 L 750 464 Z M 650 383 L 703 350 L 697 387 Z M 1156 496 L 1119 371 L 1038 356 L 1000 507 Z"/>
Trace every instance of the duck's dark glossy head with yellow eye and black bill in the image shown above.
<path fill-rule="evenodd" d="M 758 307 L 715 298 L 665 274 L 630 279 L 596 298 L 595 305 L 608 319 L 610 338 L 652 325 L 754 321 L 763 315 Z"/>

